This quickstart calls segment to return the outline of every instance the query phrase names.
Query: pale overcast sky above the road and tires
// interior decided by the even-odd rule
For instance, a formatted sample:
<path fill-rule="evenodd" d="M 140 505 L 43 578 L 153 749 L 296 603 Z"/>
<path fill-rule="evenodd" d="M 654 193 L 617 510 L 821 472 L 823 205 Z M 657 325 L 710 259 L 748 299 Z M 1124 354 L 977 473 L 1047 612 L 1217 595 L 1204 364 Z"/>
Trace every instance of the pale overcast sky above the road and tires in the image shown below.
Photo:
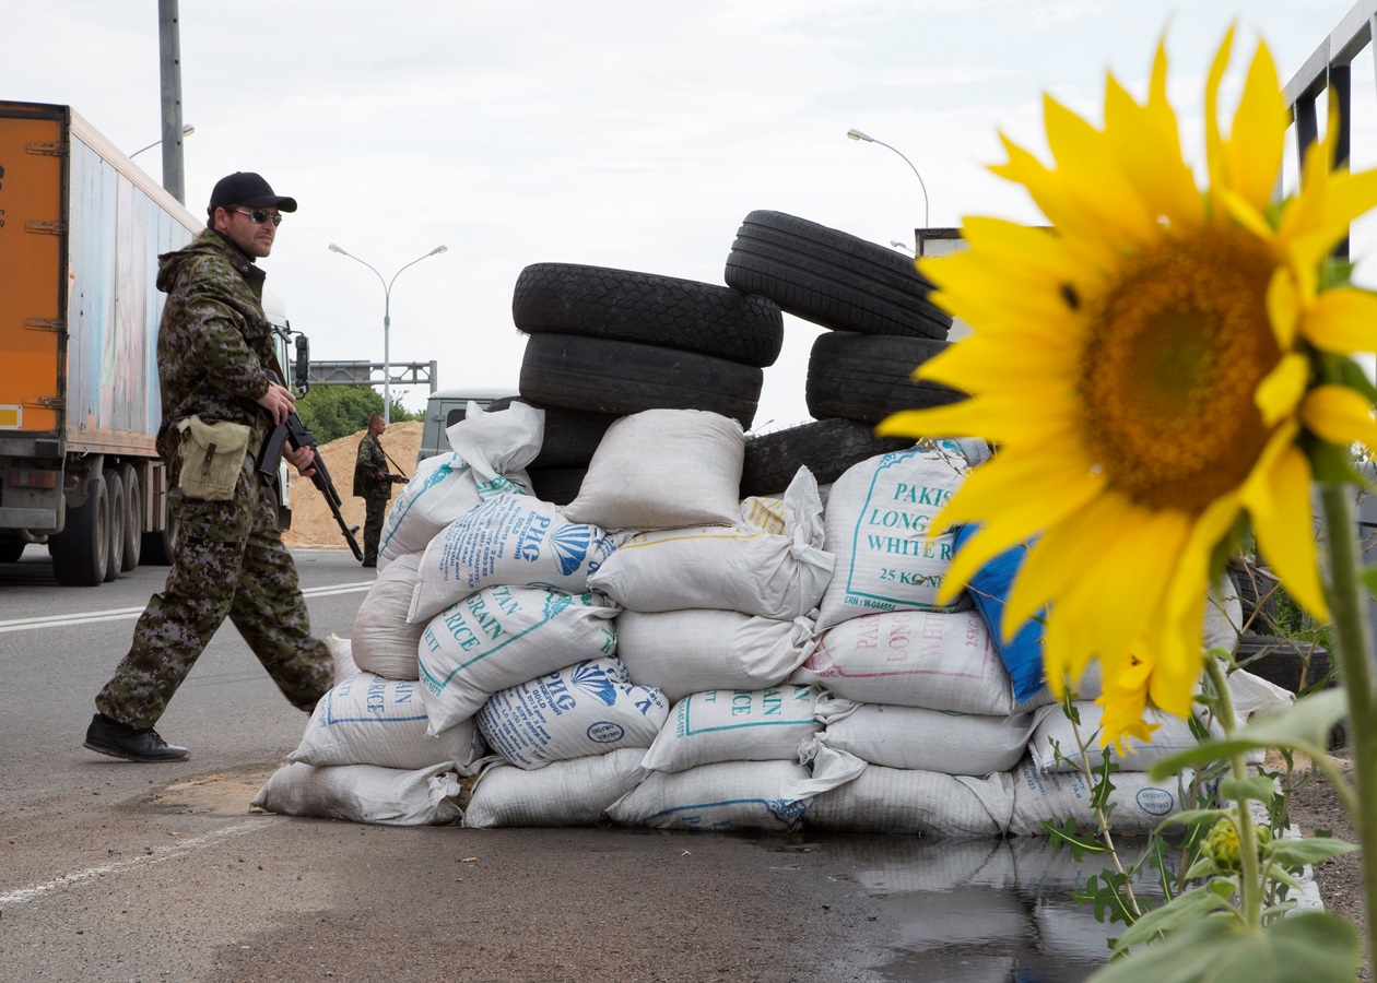
<path fill-rule="evenodd" d="M 6 7 L 0 98 L 70 105 L 125 153 L 161 136 L 156 0 Z M 233 171 L 297 198 L 262 264 L 313 358 L 380 362 L 391 281 L 394 363 L 437 361 L 442 388 L 515 391 L 525 337 L 511 299 L 527 264 L 723 284 L 741 220 L 761 208 L 907 248 L 916 227 L 969 215 L 1038 223 L 1026 194 L 987 167 L 1005 160 L 1001 132 L 1047 158 L 1044 92 L 1099 124 L 1106 72 L 1144 98 L 1165 36 L 1169 91 L 1199 168 L 1205 73 L 1228 25 L 1238 28 L 1231 113 L 1259 39 L 1285 83 L 1354 8 L 183 0 L 183 123 L 196 127 L 186 198 L 202 216 Z M 1369 48 L 1354 63 L 1355 168 L 1377 165 L 1373 78 Z M 848 140 L 852 127 L 894 150 Z M 158 149 L 136 162 L 161 180 Z M 438 245 L 448 251 L 408 266 Z M 1355 256 L 1365 252 L 1355 235 Z M 1373 267 L 1359 278 L 1377 281 Z M 808 420 L 808 351 L 821 330 L 785 317 L 759 430 Z M 427 394 L 394 387 L 410 409 Z"/>

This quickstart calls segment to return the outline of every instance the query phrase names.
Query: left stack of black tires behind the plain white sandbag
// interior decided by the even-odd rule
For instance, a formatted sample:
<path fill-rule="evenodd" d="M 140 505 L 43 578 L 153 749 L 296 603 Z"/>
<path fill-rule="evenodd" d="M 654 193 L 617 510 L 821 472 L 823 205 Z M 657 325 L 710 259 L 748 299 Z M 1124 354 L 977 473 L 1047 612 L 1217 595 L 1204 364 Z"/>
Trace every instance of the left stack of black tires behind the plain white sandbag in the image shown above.
<path fill-rule="evenodd" d="M 778 304 L 726 286 L 574 263 L 522 270 L 521 397 L 545 409 L 536 494 L 567 504 L 603 431 L 647 409 L 701 409 L 749 428 L 784 346 Z M 489 409 L 501 409 L 498 401 Z"/>

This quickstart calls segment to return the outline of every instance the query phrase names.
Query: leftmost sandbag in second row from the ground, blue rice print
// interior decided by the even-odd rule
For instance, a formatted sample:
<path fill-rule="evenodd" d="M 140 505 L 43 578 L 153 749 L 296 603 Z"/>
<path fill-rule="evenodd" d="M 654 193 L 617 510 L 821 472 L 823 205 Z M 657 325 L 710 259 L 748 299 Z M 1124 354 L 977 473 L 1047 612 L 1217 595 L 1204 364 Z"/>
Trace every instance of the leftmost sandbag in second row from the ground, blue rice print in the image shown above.
<path fill-rule="evenodd" d="M 302 743 L 286 760 L 414 771 L 432 764 L 468 765 L 482 753 L 471 720 L 437 737 L 425 734 L 427 724 L 419 683 L 361 672 L 319 698 Z"/>

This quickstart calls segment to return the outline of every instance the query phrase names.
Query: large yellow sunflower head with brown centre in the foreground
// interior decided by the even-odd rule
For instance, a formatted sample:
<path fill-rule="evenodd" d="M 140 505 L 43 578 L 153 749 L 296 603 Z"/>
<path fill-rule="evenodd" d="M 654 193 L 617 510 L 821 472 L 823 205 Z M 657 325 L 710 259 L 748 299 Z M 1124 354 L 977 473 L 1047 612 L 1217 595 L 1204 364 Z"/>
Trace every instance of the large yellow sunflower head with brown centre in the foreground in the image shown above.
<path fill-rule="evenodd" d="M 1049 604 L 1048 683 L 1060 695 L 1099 659 L 1102 742 L 1121 748 L 1146 735 L 1148 702 L 1190 712 L 1208 584 L 1245 522 L 1292 596 L 1327 618 L 1303 447 L 1377 447 L 1369 401 L 1322 372 L 1377 340 L 1377 299 L 1322 275 L 1377 204 L 1377 172 L 1332 167 L 1332 118 L 1276 205 L 1289 118 L 1265 44 L 1219 128 L 1232 34 L 1206 83 L 1205 190 L 1181 156 L 1165 43 L 1144 103 L 1108 76 L 1103 128 L 1044 96 L 1053 165 L 1004 138 L 1009 160 L 991 169 L 1049 227 L 967 219 L 967 252 L 918 262 L 974 333 L 914 377 L 969 399 L 879 427 L 998 445 L 940 515 L 938 530 L 983 522 L 943 598 L 1040 534 L 1002 632 Z"/>

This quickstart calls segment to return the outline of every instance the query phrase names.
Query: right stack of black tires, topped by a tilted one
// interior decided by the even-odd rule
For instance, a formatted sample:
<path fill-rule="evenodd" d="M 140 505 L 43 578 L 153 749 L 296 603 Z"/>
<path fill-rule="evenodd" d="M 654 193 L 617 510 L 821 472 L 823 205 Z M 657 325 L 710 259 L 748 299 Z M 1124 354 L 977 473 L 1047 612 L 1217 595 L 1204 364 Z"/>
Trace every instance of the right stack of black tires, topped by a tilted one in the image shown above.
<path fill-rule="evenodd" d="M 807 405 L 817 423 L 746 445 L 742 494 L 772 494 L 807 465 L 819 483 L 912 441 L 877 438 L 874 424 L 903 409 L 963 394 L 912 379 L 947 346 L 952 317 L 928 300 L 932 284 L 892 249 L 782 212 L 750 212 L 727 256 L 726 281 L 828 328 L 808 358 Z"/>

